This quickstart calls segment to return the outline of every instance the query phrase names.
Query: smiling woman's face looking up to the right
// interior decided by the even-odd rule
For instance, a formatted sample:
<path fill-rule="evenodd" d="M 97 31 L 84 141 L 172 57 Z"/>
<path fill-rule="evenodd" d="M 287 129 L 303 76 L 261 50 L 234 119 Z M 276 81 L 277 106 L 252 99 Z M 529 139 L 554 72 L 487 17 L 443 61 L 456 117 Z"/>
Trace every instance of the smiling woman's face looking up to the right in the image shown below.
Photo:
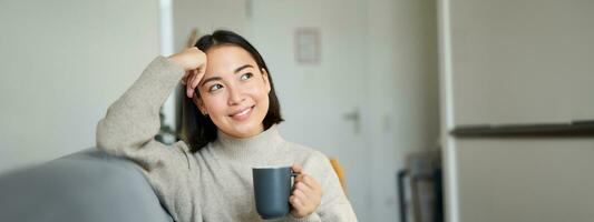
<path fill-rule="evenodd" d="M 235 46 L 213 47 L 206 58 L 196 105 L 225 134 L 249 138 L 261 133 L 271 90 L 266 71 L 259 70 L 252 56 Z"/>

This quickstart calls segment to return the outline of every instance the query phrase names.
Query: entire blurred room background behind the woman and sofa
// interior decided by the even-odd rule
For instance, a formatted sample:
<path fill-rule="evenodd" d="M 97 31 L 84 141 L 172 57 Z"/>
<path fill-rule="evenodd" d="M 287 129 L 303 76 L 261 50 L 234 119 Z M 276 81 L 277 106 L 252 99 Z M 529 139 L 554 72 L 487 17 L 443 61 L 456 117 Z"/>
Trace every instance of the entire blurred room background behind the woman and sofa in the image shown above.
<path fill-rule="evenodd" d="M 228 29 L 360 221 L 591 221 L 592 22 L 591 0 L 1 0 L 0 173 L 94 147 L 156 56 Z"/>

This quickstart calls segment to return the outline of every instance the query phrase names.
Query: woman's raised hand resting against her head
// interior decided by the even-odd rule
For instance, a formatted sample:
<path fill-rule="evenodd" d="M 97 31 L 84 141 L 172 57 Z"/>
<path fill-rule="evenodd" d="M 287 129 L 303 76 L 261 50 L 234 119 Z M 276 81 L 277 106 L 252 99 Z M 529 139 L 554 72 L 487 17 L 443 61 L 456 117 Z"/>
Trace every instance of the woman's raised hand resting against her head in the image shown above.
<path fill-rule="evenodd" d="M 182 84 L 186 85 L 186 95 L 194 97 L 194 91 L 206 71 L 206 53 L 192 47 L 172 54 L 169 61 L 184 68 L 186 74 L 182 78 Z"/>

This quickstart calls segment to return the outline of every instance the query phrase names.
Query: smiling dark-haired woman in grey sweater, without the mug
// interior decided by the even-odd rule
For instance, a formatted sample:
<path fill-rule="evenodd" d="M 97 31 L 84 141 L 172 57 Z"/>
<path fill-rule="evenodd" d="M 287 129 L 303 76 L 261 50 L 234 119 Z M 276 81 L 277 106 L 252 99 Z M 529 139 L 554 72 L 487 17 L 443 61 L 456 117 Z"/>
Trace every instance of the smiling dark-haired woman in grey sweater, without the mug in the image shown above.
<path fill-rule="evenodd" d="M 179 81 L 186 141 L 167 147 L 154 140 L 158 112 Z M 357 221 L 325 155 L 284 141 L 281 121 L 260 53 L 238 34 L 215 31 L 194 48 L 157 57 L 99 121 L 97 148 L 135 161 L 175 221 L 262 221 L 255 165 L 300 173 L 283 221 Z"/>

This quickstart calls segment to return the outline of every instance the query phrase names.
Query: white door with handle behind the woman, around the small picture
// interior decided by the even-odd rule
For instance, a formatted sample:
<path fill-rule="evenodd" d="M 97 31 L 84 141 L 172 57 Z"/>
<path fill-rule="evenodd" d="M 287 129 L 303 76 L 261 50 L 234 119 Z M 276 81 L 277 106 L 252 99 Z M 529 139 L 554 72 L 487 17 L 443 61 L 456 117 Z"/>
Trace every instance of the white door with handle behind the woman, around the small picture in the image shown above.
<path fill-rule="evenodd" d="M 283 137 L 339 159 L 348 196 L 367 221 L 369 149 L 361 122 L 364 89 L 364 8 L 360 1 L 247 1 L 249 40 L 269 65 L 285 122 Z M 320 60 L 299 63 L 295 32 L 320 34 Z M 305 46 L 308 47 L 308 46 Z M 311 46 L 310 46 L 311 47 Z"/>

